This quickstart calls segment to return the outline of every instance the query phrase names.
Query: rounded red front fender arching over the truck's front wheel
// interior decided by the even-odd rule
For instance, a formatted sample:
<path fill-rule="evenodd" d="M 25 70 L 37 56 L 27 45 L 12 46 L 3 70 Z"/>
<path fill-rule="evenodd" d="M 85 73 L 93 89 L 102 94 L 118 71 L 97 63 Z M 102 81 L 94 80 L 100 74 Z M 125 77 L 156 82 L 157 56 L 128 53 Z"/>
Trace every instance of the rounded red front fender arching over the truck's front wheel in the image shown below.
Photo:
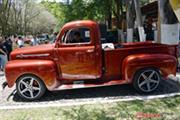
<path fill-rule="evenodd" d="M 57 69 L 50 60 L 13 60 L 8 62 L 5 76 L 9 87 L 14 86 L 16 80 L 24 74 L 33 74 L 39 77 L 51 90 L 57 84 Z"/>

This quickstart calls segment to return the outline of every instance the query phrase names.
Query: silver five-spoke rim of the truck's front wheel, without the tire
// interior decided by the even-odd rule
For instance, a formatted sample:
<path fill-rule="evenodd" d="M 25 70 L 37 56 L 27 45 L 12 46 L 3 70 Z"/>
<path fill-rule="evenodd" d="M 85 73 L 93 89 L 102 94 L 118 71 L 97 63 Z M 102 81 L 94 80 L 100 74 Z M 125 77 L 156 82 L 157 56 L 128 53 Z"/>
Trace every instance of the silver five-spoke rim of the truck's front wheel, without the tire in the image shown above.
<path fill-rule="evenodd" d="M 19 81 L 18 90 L 23 97 L 34 99 L 40 94 L 41 85 L 34 77 L 24 77 Z"/>

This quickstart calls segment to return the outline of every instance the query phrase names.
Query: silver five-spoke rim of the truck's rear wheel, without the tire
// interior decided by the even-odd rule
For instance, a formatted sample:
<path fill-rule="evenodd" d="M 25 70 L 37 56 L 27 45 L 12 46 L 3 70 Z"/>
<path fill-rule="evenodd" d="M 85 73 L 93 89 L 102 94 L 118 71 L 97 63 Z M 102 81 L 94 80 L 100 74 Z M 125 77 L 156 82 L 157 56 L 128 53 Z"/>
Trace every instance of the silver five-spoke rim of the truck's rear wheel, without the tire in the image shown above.
<path fill-rule="evenodd" d="M 155 70 L 146 70 L 138 78 L 138 86 L 143 92 L 152 92 L 160 82 L 160 77 Z"/>

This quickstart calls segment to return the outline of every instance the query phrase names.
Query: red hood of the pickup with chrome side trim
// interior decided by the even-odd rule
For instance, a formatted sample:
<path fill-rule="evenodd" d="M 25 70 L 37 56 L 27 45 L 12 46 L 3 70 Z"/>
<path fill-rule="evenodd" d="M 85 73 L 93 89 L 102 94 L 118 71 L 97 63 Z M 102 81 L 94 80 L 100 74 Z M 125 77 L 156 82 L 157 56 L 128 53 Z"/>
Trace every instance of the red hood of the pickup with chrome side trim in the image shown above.
<path fill-rule="evenodd" d="M 47 45 L 38 45 L 31 47 L 23 47 L 15 49 L 11 53 L 11 60 L 14 59 L 22 59 L 22 58 L 33 58 L 33 57 L 45 57 L 50 56 L 53 53 L 53 48 L 55 44 L 47 44 Z"/>

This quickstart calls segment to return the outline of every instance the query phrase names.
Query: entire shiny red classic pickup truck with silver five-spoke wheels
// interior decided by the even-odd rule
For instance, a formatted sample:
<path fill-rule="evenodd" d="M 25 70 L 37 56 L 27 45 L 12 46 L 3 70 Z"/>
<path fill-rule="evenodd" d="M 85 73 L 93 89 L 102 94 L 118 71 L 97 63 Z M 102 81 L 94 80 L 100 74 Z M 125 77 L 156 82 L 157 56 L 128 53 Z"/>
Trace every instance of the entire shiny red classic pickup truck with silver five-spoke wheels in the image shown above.
<path fill-rule="evenodd" d="M 55 44 L 14 50 L 5 75 L 8 87 L 16 83 L 26 100 L 46 90 L 120 84 L 150 93 L 176 75 L 176 53 L 175 45 L 151 42 L 101 44 L 96 22 L 74 21 L 64 25 Z"/>

